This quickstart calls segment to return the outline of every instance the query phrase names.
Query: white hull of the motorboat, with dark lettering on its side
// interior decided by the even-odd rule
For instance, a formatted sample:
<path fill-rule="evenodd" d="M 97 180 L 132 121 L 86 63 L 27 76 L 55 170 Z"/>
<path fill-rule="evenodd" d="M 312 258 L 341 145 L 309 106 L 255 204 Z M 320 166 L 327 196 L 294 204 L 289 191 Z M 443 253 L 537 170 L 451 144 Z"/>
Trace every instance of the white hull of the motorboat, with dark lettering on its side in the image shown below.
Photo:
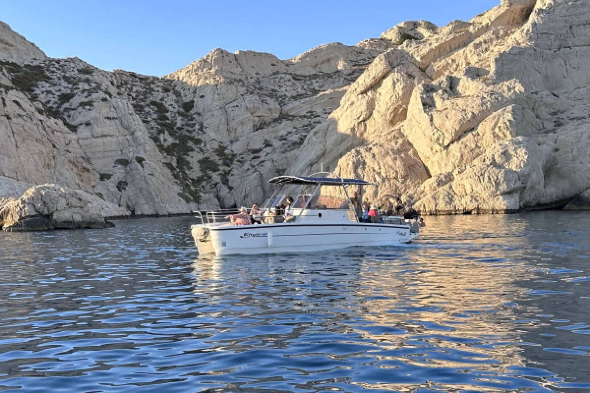
<path fill-rule="evenodd" d="M 202 241 L 203 230 L 208 231 Z M 199 253 L 270 254 L 313 252 L 353 246 L 393 246 L 418 234 L 409 225 L 370 223 L 281 223 L 245 226 L 196 225 L 192 229 Z"/>

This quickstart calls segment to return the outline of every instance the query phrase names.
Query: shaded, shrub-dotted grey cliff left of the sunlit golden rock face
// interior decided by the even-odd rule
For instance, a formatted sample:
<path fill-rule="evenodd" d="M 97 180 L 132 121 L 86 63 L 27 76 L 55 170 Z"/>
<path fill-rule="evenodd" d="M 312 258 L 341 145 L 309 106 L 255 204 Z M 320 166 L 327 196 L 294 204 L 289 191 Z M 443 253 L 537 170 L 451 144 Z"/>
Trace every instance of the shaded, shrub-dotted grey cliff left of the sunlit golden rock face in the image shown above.
<path fill-rule="evenodd" d="M 379 54 L 372 45 L 391 43 L 287 61 L 217 49 L 166 78 L 77 58 L 4 61 L 0 179 L 84 190 L 132 215 L 261 200 Z"/>

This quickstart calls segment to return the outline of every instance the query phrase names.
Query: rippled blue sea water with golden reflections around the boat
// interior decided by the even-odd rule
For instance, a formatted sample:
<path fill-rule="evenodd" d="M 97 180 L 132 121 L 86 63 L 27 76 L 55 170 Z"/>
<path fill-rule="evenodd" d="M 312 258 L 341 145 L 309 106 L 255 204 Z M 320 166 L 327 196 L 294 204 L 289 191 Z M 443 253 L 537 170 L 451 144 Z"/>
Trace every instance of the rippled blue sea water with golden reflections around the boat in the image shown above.
<path fill-rule="evenodd" d="M 0 233 L 0 390 L 590 392 L 590 214 L 212 260 L 191 222 Z"/>

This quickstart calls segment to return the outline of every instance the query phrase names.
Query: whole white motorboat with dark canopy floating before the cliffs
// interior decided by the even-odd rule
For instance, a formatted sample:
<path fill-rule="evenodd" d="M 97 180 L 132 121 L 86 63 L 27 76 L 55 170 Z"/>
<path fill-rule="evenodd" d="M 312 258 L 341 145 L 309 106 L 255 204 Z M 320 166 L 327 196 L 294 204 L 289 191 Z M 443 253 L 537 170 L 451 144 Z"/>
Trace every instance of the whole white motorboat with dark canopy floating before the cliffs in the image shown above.
<path fill-rule="evenodd" d="M 418 236 L 417 223 L 404 217 L 384 215 L 378 222 L 363 222 L 350 199 L 348 188 L 371 186 L 359 179 L 338 177 L 279 176 L 270 180 L 278 189 L 261 209 L 261 224 L 228 222 L 227 210 L 197 213 L 201 223 L 191 233 L 201 255 L 312 252 L 352 246 L 393 246 L 410 243 Z M 284 212 L 286 187 L 303 186 Z M 345 198 L 322 196 L 322 187 L 342 187 Z M 307 193 L 306 190 L 313 189 Z M 358 200 L 355 201 L 358 204 Z"/>

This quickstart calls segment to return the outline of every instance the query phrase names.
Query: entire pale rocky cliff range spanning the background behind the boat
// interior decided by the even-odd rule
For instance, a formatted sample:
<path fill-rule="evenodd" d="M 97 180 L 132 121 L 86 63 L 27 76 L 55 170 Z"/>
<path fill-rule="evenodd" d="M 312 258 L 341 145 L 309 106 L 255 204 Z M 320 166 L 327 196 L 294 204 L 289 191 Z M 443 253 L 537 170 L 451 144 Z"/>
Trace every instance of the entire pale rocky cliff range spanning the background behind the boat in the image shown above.
<path fill-rule="evenodd" d="M 163 78 L 47 58 L 1 24 L 0 197 L 55 183 L 106 216 L 187 213 L 324 163 L 424 213 L 563 205 L 590 189 L 589 48 L 585 0 L 507 0 L 290 60 L 216 49 Z"/>

